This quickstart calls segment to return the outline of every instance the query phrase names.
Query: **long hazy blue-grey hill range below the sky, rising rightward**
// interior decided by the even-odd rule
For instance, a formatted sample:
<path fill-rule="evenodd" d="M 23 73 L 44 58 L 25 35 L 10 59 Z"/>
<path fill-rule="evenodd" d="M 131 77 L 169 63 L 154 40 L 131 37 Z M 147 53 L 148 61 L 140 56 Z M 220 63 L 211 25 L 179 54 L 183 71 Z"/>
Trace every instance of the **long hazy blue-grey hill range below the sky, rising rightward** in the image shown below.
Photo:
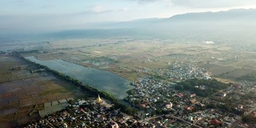
<path fill-rule="evenodd" d="M 170 18 L 101 22 L 50 34 L 58 38 L 142 36 L 176 41 L 255 42 L 256 9 L 178 14 Z"/>

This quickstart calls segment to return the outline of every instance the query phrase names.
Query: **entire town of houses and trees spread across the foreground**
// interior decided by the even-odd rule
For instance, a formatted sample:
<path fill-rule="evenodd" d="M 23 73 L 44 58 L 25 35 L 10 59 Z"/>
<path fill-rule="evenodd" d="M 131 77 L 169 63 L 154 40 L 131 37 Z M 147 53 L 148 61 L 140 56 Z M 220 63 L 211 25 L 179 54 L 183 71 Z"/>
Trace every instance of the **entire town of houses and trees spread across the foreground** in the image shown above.
<path fill-rule="evenodd" d="M 45 110 L 54 110 L 50 107 L 54 105 L 65 107 L 49 114 L 41 114 L 41 110 L 41 119 L 34 119 L 21 127 L 254 126 L 246 119 L 256 118 L 255 82 L 222 83 L 211 78 L 208 70 L 189 62 L 169 65 L 169 69 L 162 72 L 168 81 L 149 76 L 130 83 L 135 88 L 127 92 L 129 95 L 124 101 L 139 110 L 136 113 L 124 113 L 100 95 L 98 98 L 71 98 L 66 99 L 67 102 L 45 103 Z M 30 70 L 30 73 L 45 71 Z"/>

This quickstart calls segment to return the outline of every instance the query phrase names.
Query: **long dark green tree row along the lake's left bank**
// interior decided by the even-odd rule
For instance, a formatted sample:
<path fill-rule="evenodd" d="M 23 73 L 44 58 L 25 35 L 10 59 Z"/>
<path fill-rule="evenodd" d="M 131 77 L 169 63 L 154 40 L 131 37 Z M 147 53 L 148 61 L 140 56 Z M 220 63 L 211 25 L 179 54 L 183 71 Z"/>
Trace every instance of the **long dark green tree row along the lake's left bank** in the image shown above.
<path fill-rule="evenodd" d="M 78 86 L 81 90 L 85 91 L 86 93 L 89 93 L 92 96 L 97 97 L 98 94 L 100 94 L 102 98 L 106 98 L 106 99 L 110 100 L 114 104 L 115 108 L 120 108 L 126 114 L 134 114 L 135 115 L 138 113 L 137 109 L 131 108 L 130 106 L 126 106 L 126 105 L 122 104 L 121 102 L 119 102 L 119 100 L 117 98 L 114 98 L 114 96 L 111 94 L 107 94 L 104 91 L 97 90 L 89 85 L 83 85 L 82 82 L 79 81 L 78 79 L 74 79 L 74 78 L 71 78 L 69 75 L 59 73 L 57 70 L 51 70 L 48 66 L 42 66 L 38 63 L 31 62 L 30 60 L 23 58 L 22 56 L 20 56 L 20 58 L 22 58 L 26 62 L 29 62 L 30 64 L 33 64 L 34 66 L 37 66 L 39 69 L 45 69 L 49 73 L 54 74 L 54 76 L 61 78 L 62 80 L 66 81 L 66 82 L 72 83 L 74 86 Z"/>

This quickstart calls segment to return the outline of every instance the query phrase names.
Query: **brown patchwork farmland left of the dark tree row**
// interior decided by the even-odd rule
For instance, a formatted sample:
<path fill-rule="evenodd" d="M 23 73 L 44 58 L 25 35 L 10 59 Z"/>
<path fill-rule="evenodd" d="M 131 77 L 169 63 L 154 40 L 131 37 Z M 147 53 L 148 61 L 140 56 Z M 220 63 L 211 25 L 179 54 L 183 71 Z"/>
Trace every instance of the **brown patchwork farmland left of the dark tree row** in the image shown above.
<path fill-rule="evenodd" d="M 12 55 L 0 55 L 0 126 L 16 127 L 40 118 L 45 103 L 82 97 L 69 83 L 46 72 L 30 73 L 36 67 Z M 58 102 L 61 104 L 61 102 Z"/>

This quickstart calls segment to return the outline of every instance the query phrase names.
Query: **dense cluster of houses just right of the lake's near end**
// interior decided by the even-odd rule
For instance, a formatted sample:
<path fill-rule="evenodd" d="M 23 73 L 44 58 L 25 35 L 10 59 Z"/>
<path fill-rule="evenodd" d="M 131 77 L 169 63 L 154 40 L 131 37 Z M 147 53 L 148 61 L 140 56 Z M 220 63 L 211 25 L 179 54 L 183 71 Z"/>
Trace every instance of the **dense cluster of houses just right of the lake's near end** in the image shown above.
<path fill-rule="evenodd" d="M 174 90 L 174 82 L 162 83 L 152 78 L 144 78 L 132 83 L 136 88 L 130 91 L 125 100 L 134 106 L 143 108 L 148 116 L 154 111 L 173 111 L 173 114 L 182 114 L 187 110 L 198 110 L 205 106 L 202 98 L 196 94 Z"/>

